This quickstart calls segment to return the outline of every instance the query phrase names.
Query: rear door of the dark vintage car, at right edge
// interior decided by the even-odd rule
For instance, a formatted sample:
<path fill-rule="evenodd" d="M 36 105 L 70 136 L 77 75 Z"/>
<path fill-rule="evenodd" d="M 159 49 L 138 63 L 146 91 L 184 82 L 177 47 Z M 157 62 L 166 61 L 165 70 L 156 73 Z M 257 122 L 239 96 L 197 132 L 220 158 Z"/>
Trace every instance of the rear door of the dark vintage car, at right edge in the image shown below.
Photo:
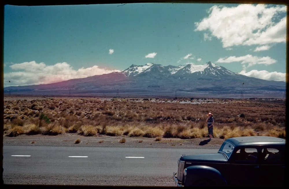
<path fill-rule="evenodd" d="M 285 148 L 263 147 L 260 158 L 261 186 L 285 186 Z"/>

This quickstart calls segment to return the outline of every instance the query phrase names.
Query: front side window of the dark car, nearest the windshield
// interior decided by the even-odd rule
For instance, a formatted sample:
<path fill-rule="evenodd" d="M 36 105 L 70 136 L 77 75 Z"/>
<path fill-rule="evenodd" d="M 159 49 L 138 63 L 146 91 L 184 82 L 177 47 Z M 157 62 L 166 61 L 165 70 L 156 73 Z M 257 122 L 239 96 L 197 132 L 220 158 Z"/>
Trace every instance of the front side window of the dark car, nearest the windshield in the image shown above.
<path fill-rule="evenodd" d="M 240 148 L 235 153 L 235 161 L 239 163 L 257 162 L 257 154 L 256 148 Z"/>

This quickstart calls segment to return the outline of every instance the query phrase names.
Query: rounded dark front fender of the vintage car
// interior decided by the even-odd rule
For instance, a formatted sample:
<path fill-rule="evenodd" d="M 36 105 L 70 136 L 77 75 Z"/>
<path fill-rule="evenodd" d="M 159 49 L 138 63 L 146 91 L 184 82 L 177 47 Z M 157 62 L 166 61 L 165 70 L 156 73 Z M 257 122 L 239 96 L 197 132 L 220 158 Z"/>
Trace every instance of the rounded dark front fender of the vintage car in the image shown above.
<path fill-rule="evenodd" d="M 185 171 L 185 170 L 184 170 Z M 213 181 L 216 186 L 227 186 L 221 173 L 210 166 L 193 165 L 186 168 L 184 186 L 193 186 L 199 180 Z"/>

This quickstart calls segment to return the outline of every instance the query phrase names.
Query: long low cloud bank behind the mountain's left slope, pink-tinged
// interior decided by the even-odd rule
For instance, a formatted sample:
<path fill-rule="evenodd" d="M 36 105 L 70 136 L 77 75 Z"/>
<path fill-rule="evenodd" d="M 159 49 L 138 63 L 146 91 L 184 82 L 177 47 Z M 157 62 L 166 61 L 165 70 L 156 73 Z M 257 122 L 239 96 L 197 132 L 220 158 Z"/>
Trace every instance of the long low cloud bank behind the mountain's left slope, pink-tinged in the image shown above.
<path fill-rule="evenodd" d="M 10 68 L 15 71 L 4 73 L 4 87 L 55 83 L 69 79 L 121 72 L 120 70 L 99 68 L 99 66 L 75 70 L 66 62 L 46 65 L 43 62 L 31 61 L 16 63 L 11 65 Z"/>

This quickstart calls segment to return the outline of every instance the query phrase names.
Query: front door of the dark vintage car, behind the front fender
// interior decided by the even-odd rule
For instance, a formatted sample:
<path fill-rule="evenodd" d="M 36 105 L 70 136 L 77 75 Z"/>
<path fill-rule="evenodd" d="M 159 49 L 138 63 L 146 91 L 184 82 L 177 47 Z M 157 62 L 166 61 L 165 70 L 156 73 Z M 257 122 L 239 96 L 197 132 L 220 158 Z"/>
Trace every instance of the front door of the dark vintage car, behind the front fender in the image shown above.
<path fill-rule="evenodd" d="M 239 147 L 231 155 L 227 182 L 231 186 L 258 186 L 260 166 L 257 148 Z"/>

